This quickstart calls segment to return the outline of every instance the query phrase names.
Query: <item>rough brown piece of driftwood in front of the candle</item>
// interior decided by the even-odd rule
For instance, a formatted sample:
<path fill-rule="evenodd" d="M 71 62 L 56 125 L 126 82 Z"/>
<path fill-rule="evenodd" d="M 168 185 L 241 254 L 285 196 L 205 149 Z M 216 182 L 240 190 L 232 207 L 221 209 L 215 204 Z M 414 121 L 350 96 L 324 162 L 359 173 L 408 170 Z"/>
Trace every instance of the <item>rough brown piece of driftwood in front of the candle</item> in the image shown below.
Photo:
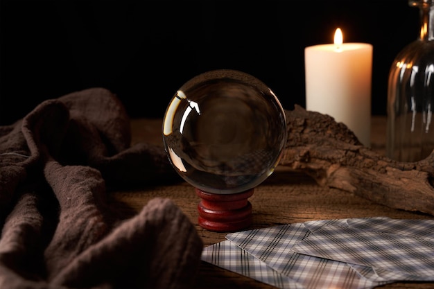
<path fill-rule="evenodd" d="M 434 215 L 434 155 L 399 162 L 363 146 L 331 116 L 295 105 L 286 110 L 288 141 L 279 164 L 321 186 L 354 193 L 394 209 Z"/>

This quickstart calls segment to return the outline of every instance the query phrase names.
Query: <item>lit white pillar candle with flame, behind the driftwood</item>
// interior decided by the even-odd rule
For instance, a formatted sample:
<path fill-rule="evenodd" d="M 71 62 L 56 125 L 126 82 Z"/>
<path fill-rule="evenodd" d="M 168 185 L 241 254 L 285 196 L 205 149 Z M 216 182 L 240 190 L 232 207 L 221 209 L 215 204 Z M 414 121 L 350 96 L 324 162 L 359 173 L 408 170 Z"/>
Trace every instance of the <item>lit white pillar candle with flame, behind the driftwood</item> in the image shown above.
<path fill-rule="evenodd" d="M 334 44 L 304 49 L 306 110 L 332 116 L 371 146 L 372 45 L 342 43 L 338 28 Z"/>

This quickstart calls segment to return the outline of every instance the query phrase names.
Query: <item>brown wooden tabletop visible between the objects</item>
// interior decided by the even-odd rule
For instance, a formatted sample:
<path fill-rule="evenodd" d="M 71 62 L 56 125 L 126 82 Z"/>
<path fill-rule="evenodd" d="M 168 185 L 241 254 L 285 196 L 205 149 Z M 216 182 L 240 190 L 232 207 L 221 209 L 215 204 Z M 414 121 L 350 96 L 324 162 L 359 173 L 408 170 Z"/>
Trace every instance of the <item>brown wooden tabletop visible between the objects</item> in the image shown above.
<path fill-rule="evenodd" d="M 163 146 L 161 119 L 132 119 L 132 144 L 150 141 Z M 385 151 L 385 116 L 372 117 L 372 150 Z M 225 240 L 227 233 L 207 231 L 198 225 L 198 202 L 193 187 L 187 183 L 147 187 L 136 191 L 110 193 L 110 202 L 134 210 L 151 199 L 170 198 L 196 225 L 205 246 Z M 433 219 L 434 216 L 391 209 L 338 189 L 318 186 L 311 177 L 278 167 L 249 198 L 253 207 L 254 228 L 284 225 L 308 220 L 388 216 L 390 218 Z M 434 252 L 433 252 L 434 256 Z M 275 288 L 202 261 L 196 288 Z M 434 288 L 434 283 L 392 283 L 378 288 Z"/>

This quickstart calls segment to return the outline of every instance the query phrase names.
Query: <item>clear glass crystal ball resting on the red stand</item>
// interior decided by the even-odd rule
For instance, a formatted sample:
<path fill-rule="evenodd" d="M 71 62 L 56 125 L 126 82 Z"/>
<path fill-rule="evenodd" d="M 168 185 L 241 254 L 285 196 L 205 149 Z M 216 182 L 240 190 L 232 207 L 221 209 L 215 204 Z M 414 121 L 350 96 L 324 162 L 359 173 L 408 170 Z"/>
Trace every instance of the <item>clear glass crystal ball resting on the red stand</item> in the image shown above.
<path fill-rule="evenodd" d="M 207 193 L 241 193 L 261 184 L 279 163 L 285 112 L 257 78 L 229 69 L 208 71 L 173 96 L 163 141 L 186 182 Z"/>

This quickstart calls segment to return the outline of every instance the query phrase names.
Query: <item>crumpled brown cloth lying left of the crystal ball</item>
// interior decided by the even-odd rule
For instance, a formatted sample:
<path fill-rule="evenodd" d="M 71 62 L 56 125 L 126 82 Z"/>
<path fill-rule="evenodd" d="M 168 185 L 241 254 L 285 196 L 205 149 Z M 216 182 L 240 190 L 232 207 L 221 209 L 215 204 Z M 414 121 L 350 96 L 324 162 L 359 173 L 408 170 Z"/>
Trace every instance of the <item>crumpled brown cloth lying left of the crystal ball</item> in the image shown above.
<path fill-rule="evenodd" d="M 125 217 L 109 188 L 172 182 L 164 149 L 130 146 L 111 91 L 46 100 L 0 126 L 0 288 L 189 288 L 202 240 L 169 199 Z"/>

